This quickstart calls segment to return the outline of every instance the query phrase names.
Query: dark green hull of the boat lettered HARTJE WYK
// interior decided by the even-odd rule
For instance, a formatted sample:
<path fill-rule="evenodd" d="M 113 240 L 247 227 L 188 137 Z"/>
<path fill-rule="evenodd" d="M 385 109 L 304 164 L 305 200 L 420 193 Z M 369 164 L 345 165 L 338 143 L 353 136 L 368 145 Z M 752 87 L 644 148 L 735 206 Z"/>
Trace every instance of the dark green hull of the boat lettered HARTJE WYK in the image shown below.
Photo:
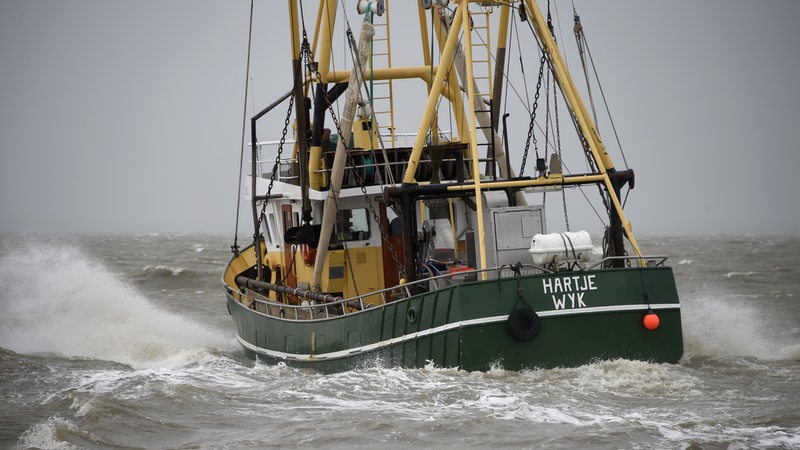
<path fill-rule="evenodd" d="M 675 363 L 683 354 L 680 304 L 669 267 L 464 282 L 317 320 L 268 316 L 227 297 L 246 350 L 266 361 L 320 371 L 375 363 L 468 371 L 614 358 Z M 648 308 L 660 318 L 654 330 L 643 325 Z M 509 319 L 515 310 L 526 311 L 527 318 L 535 311 L 538 334 L 527 319 Z"/>

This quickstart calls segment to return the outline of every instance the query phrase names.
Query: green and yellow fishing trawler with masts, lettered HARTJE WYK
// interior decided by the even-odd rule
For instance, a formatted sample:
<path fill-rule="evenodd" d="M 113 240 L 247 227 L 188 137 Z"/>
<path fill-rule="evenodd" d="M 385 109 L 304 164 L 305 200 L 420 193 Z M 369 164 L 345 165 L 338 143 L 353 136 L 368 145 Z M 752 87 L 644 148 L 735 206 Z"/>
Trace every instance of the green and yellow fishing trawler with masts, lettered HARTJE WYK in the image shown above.
<path fill-rule="evenodd" d="M 288 6 L 293 85 L 250 119 L 255 232 L 244 248 L 234 241 L 222 280 L 248 353 L 321 371 L 681 358 L 672 269 L 634 238 L 621 202 L 633 171 L 612 162 L 549 11 L 532 0 L 321 0 L 307 28 L 312 8 Z M 393 64 L 391 29 L 406 50 L 419 33 L 415 64 Z M 508 70 L 517 42 L 538 75 Z M 515 82 L 536 86 L 532 102 Z M 259 141 L 259 120 L 276 114 L 283 129 Z M 396 131 L 410 120 L 416 132 Z M 573 231 L 568 197 L 590 195 L 597 228 Z M 564 217 L 546 221 L 548 210 Z"/>

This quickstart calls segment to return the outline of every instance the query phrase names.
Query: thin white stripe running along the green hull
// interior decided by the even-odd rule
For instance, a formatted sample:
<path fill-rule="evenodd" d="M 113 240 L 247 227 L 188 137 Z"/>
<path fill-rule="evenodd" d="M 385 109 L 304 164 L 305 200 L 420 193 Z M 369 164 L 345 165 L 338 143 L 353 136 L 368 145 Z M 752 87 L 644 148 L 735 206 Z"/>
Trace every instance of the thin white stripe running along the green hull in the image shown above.
<path fill-rule="evenodd" d="M 647 310 L 648 307 L 655 311 L 660 309 L 680 309 L 681 306 L 678 303 L 663 303 L 663 304 L 651 304 L 651 305 L 640 304 L 640 305 L 622 305 L 622 306 L 596 306 L 590 308 L 559 309 L 559 310 L 541 311 L 541 312 L 537 311 L 536 314 L 538 314 L 539 317 L 557 317 L 557 316 L 570 316 L 575 314 L 591 314 L 591 313 L 604 313 L 604 312 L 645 311 Z M 361 347 L 353 347 L 347 350 L 340 350 L 338 352 L 320 353 L 317 355 L 285 353 L 276 350 L 269 350 L 266 348 L 259 347 L 257 345 L 253 345 L 250 342 L 247 342 L 244 339 L 242 339 L 239 335 L 236 336 L 236 339 L 239 341 L 239 343 L 242 344 L 242 346 L 260 355 L 266 355 L 273 358 L 287 359 L 292 361 L 314 362 L 314 361 L 341 359 L 347 356 L 357 355 L 359 353 L 370 352 L 383 347 L 388 347 L 390 345 L 399 344 L 406 341 L 412 341 L 420 337 L 425 337 L 437 333 L 443 333 L 445 331 L 449 331 L 459 327 L 484 325 L 495 322 L 504 322 L 506 320 L 508 320 L 508 315 L 462 320 L 459 322 L 447 323 L 438 327 L 417 331 L 416 333 L 404 334 L 403 336 L 398 336 L 396 338 L 376 342 L 374 344 L 363 345 Z"/>

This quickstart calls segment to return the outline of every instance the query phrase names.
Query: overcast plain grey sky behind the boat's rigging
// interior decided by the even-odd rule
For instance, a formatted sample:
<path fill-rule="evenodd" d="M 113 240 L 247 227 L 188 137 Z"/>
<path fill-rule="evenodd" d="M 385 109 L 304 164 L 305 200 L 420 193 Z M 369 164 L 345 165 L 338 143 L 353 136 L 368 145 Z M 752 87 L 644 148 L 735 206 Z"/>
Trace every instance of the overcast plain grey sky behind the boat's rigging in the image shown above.
<path fill-rule="evenodd" d="M 574 3 L 634 229 L 800 233 L 800 2 Z M 0 0 L 0 231 L 232 233 L 249 5 Z M 285 9 L 256 2 L 257 109 L 289 88 Z"/>

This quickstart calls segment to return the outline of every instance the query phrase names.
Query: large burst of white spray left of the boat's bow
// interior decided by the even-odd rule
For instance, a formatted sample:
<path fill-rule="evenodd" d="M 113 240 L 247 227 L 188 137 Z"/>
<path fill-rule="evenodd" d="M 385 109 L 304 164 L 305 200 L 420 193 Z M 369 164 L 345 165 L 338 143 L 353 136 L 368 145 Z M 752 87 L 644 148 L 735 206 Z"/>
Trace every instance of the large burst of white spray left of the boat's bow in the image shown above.
<path fill-rule="evenodd" d="M 0 346 L 134 367 L 191 364 L 222 334 L 165 311 L 68 246 L 30 244 L 0 259 Z"/>

